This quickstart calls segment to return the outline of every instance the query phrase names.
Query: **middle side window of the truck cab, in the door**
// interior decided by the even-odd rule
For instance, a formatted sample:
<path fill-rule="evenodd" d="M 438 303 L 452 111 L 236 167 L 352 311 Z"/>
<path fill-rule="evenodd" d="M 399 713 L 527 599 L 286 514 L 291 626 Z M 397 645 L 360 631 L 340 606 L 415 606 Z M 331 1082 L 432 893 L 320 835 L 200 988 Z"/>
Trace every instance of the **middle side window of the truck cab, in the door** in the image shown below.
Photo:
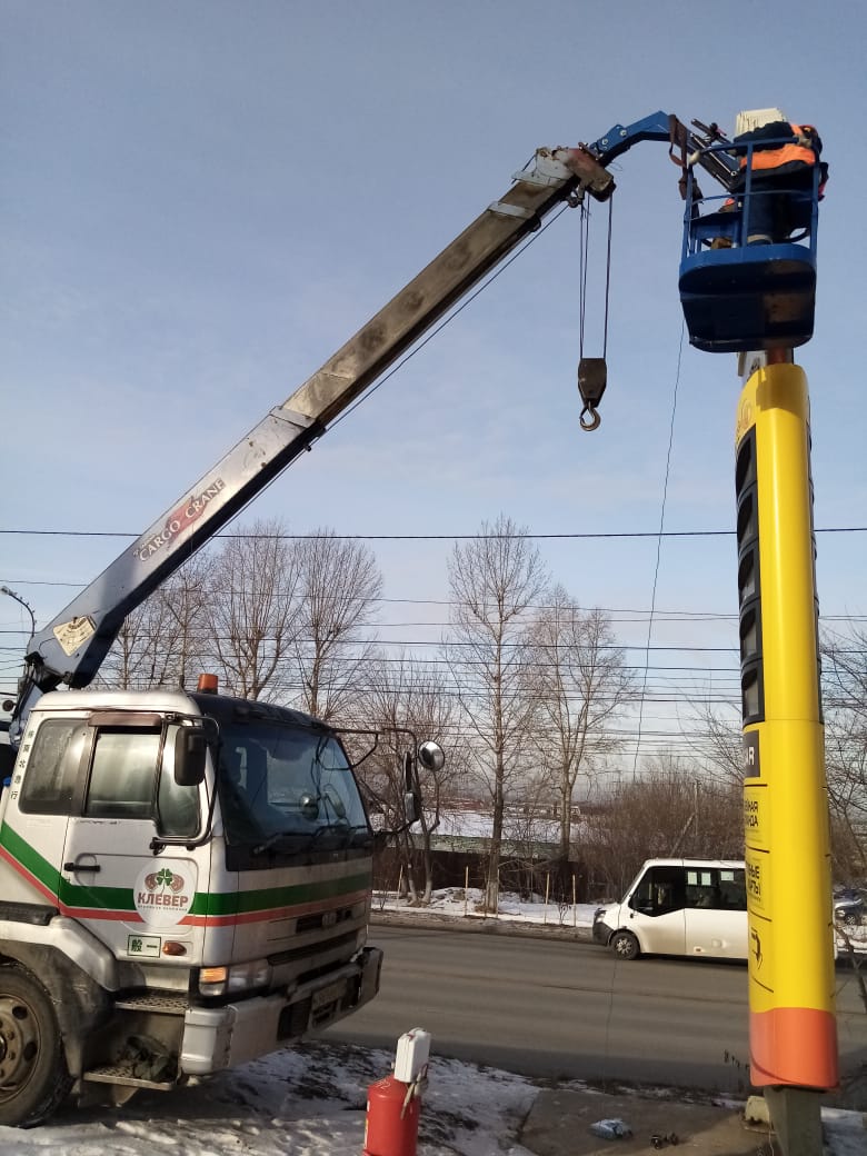
<path fill-rule="evenodd" d="M 160 731 L 97 731 L 84 814 L 118 818 L 154 815 L 160 738 Z"/>

